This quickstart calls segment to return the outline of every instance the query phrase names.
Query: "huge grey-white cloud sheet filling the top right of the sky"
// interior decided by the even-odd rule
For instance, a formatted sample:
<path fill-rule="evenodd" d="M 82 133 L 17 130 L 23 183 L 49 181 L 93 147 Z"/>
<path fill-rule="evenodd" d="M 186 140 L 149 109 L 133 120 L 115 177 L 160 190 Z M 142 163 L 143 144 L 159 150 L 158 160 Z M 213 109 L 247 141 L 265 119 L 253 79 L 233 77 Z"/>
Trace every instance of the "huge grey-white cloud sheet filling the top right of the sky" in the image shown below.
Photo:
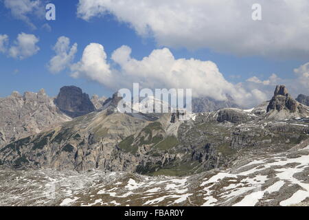
<path fill-rule="evenodd" d="M 78 17 L 110 13 L 159 45 L 210 48 L 237 55 L 309 56 L 309 1 L 260 0 L 262 21 L 253 21 L 256 0 L 80 0 Z"/>

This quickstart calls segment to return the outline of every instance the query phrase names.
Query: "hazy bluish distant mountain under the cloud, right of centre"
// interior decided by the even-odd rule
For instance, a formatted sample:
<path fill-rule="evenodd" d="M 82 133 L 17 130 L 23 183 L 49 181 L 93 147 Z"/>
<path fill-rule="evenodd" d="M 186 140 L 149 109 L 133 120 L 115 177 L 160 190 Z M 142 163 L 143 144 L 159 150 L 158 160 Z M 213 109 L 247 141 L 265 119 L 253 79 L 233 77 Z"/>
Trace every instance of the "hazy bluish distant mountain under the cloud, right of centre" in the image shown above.
<path fill-rule="evenodd" d="M 213 98 L 192 98 L 192 111 L 194 113 L 218 111 L 225 108 L 240 108 L 238 104 L 227 95 L 226 101 L 218 101 Z"/>

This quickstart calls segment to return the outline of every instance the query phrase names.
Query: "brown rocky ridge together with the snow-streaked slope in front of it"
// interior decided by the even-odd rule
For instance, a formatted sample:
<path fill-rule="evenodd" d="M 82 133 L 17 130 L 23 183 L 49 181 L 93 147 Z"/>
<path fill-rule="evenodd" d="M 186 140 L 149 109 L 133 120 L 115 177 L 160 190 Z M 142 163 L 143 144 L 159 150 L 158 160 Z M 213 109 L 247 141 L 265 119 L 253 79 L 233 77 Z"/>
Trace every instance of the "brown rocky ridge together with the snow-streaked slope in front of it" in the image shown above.
<path fill-rule="evenodd" d="M 120 100 L 114 94 L 100 111 L 0 148 L 1 179 L 12 177 L 2 180 L 0 202 L 288 206 L 307 201 L 309 107 L 286 87 L 277 86 L 270 101 L 247 110 L 120 113 Z M 16 185 L 10 186 L 12 181 Z M 21 201 L 14 192 L 26 181 L 30 190 L 21 193 L 27 198 Z M 32 189 L 36 184 L 42 187 Z M 54 199 L 43 199 L 51 186 Z"/>

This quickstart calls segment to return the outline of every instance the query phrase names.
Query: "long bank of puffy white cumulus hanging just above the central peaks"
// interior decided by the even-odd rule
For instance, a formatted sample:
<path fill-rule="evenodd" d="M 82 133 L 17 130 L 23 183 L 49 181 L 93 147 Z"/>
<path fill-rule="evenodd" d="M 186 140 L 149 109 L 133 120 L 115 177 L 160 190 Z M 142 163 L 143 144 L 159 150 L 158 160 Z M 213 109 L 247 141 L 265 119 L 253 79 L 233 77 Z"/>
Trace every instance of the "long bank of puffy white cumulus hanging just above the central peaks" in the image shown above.
<path fill-rule="evenodd" d="M 128 46 L 119 47 L 108 62 L 104 47 L 89 44 L 78 63 L 71 66 L 71 76 L 94 80 L 110 89 L 130 88 L 133 83 L 150 89 L 192 89 L 193 95 L 226 100 L 227 94 L 238 104 L 250 106 L 266 95 L 258 89 L 247 91 L 242 85 L 225 80 L 217 65 L 194 58 L 174 58 L 168 48 L 153 50 L 140 61 L 130 56 Z"/>

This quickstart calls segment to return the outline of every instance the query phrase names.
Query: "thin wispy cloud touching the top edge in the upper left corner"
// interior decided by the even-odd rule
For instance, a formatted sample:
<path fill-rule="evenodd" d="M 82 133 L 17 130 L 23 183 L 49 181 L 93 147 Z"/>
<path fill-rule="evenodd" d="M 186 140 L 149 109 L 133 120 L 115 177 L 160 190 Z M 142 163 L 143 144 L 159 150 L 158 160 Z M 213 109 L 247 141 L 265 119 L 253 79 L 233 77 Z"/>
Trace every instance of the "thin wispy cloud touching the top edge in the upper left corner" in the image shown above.
<path fill-rule="evenodd" d="M 12 16 L 20 19 L 30 25 L 32 29 L 36 29 L 32 23 L 30 16 L 43 18 L 45 10 L 41 0 L 4 0 L 5 8 L 11 10 Z"/>

